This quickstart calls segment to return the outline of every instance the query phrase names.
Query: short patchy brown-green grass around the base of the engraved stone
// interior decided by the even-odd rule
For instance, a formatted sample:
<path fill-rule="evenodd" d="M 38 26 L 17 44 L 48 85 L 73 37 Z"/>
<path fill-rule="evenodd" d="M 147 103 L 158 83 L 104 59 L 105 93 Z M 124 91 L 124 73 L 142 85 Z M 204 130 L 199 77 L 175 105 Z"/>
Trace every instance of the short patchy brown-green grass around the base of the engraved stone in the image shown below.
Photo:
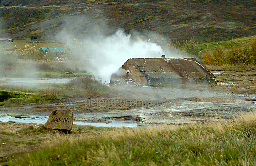
<path fill-rule="evenodd" d="M 16 155 L 41 150 L 45 140 L 81 133 L 90 136 L 107 130 L 114 130 L 114 128 L 73 125 L 72 133 L 64 134 L 56 130 L 48 130 L 44 125 L 35 123 L 0 122 L 0 165 L 6 165 L 4 162 L 12 160 Z"/>

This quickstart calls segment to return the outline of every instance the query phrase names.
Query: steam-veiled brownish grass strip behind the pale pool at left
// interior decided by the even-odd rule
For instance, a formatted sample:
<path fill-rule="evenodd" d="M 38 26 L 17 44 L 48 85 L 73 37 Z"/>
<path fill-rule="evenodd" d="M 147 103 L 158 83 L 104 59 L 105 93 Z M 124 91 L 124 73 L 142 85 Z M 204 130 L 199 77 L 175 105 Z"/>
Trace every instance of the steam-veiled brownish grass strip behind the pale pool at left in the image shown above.
<path fill-rule="evenodd" d="M 0 59 L 0 75 L 18 78 L 63 78 L 90 76 L 83 62 L 76 60 L 56 61 L 19 59 L 19 56 L 4 55 Z"/>

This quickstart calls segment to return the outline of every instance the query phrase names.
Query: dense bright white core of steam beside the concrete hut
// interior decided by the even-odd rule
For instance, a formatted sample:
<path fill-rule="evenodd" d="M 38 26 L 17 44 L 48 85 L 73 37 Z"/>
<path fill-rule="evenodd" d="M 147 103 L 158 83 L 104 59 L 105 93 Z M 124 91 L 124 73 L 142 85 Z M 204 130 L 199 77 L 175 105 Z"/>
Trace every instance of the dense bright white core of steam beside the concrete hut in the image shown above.
<path fill-rule="evenodd" d="M 161 57 L 164 50 L 156 43 L 131 39 L 122 30 L 111 36 L 86 38 L 71 45 L 71 52 L 84 64 L 84 68 L 109 83 L 110 75 L 129 58 Z"/>

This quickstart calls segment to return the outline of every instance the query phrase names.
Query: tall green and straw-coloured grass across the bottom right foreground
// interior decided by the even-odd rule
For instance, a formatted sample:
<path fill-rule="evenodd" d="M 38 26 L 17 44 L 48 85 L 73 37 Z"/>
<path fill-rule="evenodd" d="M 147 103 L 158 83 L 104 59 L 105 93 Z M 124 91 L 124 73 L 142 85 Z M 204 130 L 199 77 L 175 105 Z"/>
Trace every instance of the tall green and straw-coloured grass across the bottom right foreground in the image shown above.
<path fill-rule="evenodd" d="M 256 110 L 234 122 L 55 136 L 10 165 L 255 165 Z"/>

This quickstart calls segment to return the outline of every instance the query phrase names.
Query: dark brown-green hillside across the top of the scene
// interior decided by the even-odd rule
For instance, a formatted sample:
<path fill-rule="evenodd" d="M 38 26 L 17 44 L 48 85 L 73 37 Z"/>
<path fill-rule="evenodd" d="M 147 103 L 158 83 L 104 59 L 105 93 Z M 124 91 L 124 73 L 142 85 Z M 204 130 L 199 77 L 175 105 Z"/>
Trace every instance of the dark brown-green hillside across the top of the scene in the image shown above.
<path fill-rule="evenodd" d="M 256 35 L 253 0 L 2 0 L 1 6 L 0 35 L 16 40 L 108 35 L 118 28 L 199 43 Z"/>

